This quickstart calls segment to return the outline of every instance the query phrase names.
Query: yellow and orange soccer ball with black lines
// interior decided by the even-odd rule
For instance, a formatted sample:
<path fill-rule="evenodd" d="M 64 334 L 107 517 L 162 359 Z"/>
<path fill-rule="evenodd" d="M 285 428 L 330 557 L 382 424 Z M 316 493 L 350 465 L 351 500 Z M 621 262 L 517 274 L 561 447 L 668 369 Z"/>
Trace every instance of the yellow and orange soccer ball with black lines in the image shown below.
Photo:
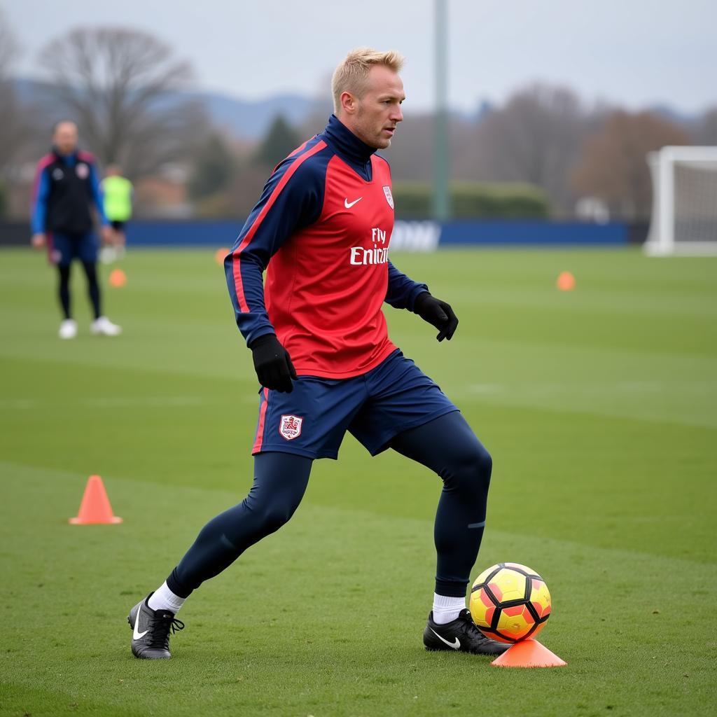
<path fill-rule="evenodd" d="M 518 563 L 484 570 L 470 591 L 470 614 L 483 635 L 499 642 L 535 637 L 550 617 L 550 592 L 536 571 Z"/>

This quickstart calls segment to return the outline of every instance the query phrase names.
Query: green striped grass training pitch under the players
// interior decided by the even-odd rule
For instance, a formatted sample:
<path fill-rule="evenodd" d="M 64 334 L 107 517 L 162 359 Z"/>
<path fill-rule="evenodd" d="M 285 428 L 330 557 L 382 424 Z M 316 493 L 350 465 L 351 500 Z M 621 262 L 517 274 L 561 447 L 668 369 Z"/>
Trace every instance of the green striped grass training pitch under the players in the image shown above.
<path fill-rule="evenodd" d="M 494 459 L 475 574 L 543 574 L 568 667 L 427 653 L 440 482 L 346 438 L 275 536 L 205 584 L 174 658 L 128 609 L 251 483 L 250 355 L 209 251 L 130 252 L 117 339 L 57 338 L 54 275 L 0 252 L 0 714 L 708 715 L 717 704 L 717 259 L 636 251 L 396 255 L 460 317 L 391 336 Z M 561 293 L 561 270 L 576 290 Z M 106 271 L 105 271 L 106 273 Z M 120 526 L 75 527 L 91 473 Z"/>

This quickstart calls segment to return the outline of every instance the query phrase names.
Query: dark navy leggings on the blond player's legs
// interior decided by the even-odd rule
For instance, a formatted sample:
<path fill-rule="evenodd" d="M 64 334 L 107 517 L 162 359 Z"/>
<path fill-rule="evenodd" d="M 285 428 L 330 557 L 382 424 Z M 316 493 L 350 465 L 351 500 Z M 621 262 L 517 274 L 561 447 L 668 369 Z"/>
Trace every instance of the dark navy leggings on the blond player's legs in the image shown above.
<path fill-rule="evenodd" d="M 440 595 L 465 597 L 483 538 L 493 465 L 490 455 L 457 411 L 399 434 L 390 447 L 442 478 L 434 528 L 435 590 Z M 203 581 L 284 525 L 303 498 L 311 463 L 310 458 L 290 453 L 257 455 L 249 495 L 206 523 L 167 578 L 169 589 L 188 597 Z"/>

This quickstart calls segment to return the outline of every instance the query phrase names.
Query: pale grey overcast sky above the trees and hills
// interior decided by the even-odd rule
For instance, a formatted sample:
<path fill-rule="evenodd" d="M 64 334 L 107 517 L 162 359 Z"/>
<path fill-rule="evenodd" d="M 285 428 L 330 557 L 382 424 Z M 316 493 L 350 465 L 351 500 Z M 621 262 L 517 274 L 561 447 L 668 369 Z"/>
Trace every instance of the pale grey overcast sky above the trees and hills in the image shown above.
<path fill-rule="evenodd" d="M 542 81 L 628 108 L 717 105 L 717 0 L 447 0 L 449 98 L 473 110 Z M 242 98 L 326 92 L 348 49 L 407 57 L 406 109 L 434 98 L 433 0 L 0 0 L 22 56 L 77 25 L 153 32 L 191 62 L 197 85 Z"/>

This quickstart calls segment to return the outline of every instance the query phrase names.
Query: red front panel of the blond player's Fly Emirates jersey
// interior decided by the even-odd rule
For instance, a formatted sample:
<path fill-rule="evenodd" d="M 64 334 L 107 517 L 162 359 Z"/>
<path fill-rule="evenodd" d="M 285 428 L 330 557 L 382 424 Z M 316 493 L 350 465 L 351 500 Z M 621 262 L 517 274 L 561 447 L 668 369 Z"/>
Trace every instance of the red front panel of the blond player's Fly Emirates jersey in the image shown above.
<path fill-rule="evenodd" d="M 394 351 L 381 306 L 394 227 L 391 175 L 371 157 L 365 181 L 338 156 L 326 171 L 323 210 L 272 257 L 267 311 L 298 374 L 350 378 Z"/>

